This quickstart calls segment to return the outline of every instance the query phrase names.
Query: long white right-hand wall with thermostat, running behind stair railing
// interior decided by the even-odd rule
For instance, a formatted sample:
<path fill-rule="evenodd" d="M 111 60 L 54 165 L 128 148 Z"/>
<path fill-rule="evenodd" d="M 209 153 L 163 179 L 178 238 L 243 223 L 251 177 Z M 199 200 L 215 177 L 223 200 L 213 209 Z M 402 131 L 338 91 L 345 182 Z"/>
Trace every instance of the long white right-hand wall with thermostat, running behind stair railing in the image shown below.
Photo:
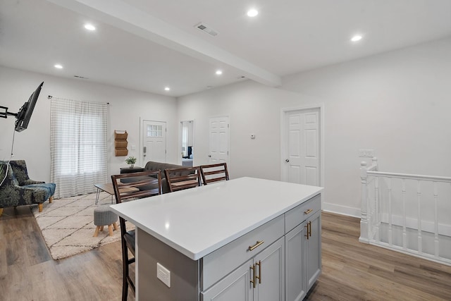
<path fill-rule="evenodd" d="M 208 119 L 230 116 L 230 176 L 280 180 L 280 109 L 324 104 L 324 209 L 359 215 L 358 149 L 382 171 L 451 176 L 451 39 L 292 75 L 279 89 L 245 81 L 178 99 L 195 119 L 196 164 Z M 257 138 L 250 140 L 255 133 Z"/>

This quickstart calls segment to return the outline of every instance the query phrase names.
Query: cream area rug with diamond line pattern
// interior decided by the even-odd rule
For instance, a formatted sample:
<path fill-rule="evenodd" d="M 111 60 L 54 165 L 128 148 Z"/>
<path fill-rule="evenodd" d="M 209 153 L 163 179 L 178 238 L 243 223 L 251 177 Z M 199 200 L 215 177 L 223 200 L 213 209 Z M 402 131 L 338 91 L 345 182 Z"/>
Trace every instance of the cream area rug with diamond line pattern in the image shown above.
<path fill-rule="evenodd" d="M 42 212 L 39 212 L 37 207 L 32 207 L 32 212 L 53 259 L 63 259 L 121 240 L 119 220 L 116 222 L 118 230 L 113 231 L 113 236 L 108 235 L 108 226 L 104 226 L 104 231 L 100 231 L 97 237 L 92 237 L 96 228 L 94 226 L 95 199 L 96 194 L 92 193 L 54 199 L 51 204 L 45 202 Z M 111 195 L 101 192 L 97 206 L 101 204 L 111 204 Z M 130 227 L 133 228 L 131 224 Z"/>

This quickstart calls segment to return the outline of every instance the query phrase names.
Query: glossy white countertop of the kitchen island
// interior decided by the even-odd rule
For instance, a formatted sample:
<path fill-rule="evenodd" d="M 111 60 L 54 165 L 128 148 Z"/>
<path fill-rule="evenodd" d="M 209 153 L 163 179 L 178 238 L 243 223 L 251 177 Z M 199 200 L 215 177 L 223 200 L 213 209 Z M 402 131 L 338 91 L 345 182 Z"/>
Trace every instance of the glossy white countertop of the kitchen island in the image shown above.
<path fill-rule="evenodd" d="M 197 260 L 321 190 L 316 186 L 237 178 L 115 204 L 111 209 L 137 228 Z"/>

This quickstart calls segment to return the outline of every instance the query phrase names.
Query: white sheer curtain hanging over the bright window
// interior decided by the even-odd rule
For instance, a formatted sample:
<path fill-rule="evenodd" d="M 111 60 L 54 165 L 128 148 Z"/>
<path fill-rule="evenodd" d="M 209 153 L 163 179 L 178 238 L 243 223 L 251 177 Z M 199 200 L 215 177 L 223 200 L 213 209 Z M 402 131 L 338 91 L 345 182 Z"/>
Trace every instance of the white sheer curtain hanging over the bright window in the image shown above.
<path fill-rule="evenodd" d="M 51 99 L 50 180 L 55 198 L 94 192 L 107 182 L 107 104 Z"/>

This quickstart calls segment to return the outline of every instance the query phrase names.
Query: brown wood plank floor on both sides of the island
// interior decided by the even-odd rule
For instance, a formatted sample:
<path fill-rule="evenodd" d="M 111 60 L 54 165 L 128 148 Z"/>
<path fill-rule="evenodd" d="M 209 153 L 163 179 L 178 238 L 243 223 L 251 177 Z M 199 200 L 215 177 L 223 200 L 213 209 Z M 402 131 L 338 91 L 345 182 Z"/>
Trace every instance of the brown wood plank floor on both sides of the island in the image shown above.
<path fill-rule="evenodd" d="M 450 266 L 360 243 L 359 219 L 322 223 L 323 274 L 305 300 L 451 300 Z M 4 209 L 0 242 L 0 300 L 121 300 L 120 242 L 54 261 L 26 206 Z"/>

